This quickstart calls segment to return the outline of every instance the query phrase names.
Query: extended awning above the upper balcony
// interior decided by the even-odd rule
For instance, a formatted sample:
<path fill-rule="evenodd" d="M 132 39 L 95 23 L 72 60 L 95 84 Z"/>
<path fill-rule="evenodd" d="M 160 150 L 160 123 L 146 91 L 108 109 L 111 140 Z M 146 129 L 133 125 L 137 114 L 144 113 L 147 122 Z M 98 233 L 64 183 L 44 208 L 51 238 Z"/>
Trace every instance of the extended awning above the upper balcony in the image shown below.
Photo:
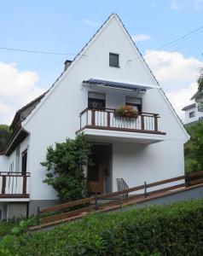
<path fill-rule="evenodd" d="M 106 87 L 120 90 L 134 90 L 137 92 L 145 92 L 148 89 L 152 89 L 155 86 L 141 85 L 141 84 L 128 84 L 124 82 L 107 81 L 102 79 L 89 79 L 83 81 L 84 85 L 91 85 L 96 87 Z"/>

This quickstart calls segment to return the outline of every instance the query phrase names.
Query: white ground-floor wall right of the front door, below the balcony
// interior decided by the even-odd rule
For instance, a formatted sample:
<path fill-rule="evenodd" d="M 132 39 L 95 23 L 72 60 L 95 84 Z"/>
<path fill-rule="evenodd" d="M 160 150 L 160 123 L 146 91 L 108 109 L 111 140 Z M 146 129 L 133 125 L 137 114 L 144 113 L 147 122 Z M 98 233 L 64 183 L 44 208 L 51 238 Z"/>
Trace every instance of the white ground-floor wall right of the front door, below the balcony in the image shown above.
<path fill-rule="evenodd" d="M 184 155 L 181 142 L 165 141 L 148 146 L 113 143 L 113 190 L 117 189 L 117 177 L 123 177 L 131 188 L 142 185 L 145 181 L 152 183 L 181 176 L 183 173 Z"/>

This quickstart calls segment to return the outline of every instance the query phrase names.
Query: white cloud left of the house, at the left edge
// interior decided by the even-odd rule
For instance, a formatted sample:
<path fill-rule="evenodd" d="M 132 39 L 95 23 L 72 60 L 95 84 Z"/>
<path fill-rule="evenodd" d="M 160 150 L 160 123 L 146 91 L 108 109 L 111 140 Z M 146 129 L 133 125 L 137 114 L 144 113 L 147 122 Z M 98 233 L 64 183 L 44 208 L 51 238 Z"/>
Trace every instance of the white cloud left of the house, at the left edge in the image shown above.
<path fill-rule="evenodd" d="M 0 62 L 0 123 L 10 124 L 16 110 L 44 93 L 36 85 L 38 79 L 37 73 Z"/>

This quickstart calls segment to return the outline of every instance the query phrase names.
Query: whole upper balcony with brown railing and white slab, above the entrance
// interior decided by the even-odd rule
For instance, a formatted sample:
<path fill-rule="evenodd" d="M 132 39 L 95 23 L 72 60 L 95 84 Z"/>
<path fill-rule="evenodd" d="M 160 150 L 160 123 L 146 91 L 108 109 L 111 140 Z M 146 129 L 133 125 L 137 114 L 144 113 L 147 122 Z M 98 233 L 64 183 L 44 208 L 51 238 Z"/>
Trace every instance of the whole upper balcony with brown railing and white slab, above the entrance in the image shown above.
<path fill-rule="evenodd" d="M 165 139 L 159 131 L 159 114 L 139 113 L 136 118 L 119 117 L 115 109 L 86 108 L 79 115 L 80 129 L 90 140 L 156 143 Z"/>

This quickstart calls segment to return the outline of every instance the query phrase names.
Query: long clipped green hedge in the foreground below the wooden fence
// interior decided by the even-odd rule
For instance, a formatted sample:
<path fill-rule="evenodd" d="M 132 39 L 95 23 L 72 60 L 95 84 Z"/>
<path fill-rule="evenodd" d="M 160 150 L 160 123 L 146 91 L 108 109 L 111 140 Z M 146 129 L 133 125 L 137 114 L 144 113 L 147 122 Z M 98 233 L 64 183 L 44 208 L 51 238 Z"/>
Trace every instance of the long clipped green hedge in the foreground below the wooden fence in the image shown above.
<path fill-rule="evenodd" d="M 14 236 L 11 255 L 203 255 L 203 200 L 90 214 Z"/>

